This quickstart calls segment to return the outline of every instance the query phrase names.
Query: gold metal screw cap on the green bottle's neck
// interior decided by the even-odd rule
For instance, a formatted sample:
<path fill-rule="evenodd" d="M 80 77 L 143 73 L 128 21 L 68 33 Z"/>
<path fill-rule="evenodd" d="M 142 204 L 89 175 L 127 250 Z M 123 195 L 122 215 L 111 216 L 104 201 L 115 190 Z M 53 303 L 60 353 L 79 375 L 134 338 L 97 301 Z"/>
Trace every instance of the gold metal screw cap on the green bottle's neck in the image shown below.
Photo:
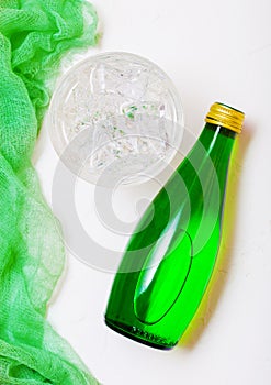
<path fill-rule="evenodd" d="M 226 129 L 241 132 L 245 113 L 229 106 L 215 102 L 206 116 L 205 122 L 222 125 Z"/>

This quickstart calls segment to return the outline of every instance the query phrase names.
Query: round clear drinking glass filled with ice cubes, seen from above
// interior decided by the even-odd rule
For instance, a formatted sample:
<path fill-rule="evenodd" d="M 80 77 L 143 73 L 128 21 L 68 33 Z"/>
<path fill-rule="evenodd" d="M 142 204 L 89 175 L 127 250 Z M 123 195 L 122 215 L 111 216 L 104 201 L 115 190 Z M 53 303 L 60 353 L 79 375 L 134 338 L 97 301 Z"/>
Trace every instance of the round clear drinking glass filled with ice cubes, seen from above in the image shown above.
<path fill-rule="evenodd" d="M 69 69 L 49 108 L 53 145 L 65 165 L 100 184 L 140 183 L 170 163 L 183 134 L 179 95 L 167 74 L 116 52 Z"/>

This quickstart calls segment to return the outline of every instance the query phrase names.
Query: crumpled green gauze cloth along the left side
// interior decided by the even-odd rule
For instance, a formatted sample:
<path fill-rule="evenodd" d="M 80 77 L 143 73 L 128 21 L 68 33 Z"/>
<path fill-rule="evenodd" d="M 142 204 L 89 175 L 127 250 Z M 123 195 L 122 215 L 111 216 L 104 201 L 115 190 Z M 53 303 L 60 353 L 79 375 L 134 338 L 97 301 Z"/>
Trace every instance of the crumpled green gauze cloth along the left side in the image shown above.
<path fill-rule="evenodd" d="M 31 165 L 48 82 L 95 28 L 80 0 L 0 0 L 0 385 L 98 384 L 45 321 L 64 245 Z"/>

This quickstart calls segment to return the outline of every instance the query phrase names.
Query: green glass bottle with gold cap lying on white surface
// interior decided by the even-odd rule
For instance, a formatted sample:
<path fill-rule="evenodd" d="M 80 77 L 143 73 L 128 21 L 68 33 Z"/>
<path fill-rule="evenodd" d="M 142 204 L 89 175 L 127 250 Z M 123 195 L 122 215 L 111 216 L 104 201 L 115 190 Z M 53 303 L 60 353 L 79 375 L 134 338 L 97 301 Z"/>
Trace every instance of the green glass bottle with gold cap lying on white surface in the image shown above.
<path fill-rule="evenodd" d="M 214 103 L 189 155 L 145 211 L 116 273 L 105 314 L 113 330 L 174 346 L 211 278 L 227 169 L 244 113 Z"/>

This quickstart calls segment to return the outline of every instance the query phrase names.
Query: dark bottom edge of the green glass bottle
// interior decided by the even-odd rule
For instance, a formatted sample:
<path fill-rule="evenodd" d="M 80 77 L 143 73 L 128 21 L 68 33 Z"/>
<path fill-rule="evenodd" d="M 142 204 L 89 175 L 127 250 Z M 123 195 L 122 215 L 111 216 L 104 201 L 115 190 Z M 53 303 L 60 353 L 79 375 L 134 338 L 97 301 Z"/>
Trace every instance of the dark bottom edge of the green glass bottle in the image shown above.
<path fill-rule="evenodd" d="M 128 327 L 127 324 L 124 324 L 122 322 L 111 321 L 106 317 L 104 318 L 104 320 L 105 320 L 105 324 L 110 329 L 136 342 L 143 343 L 147 346 L 159 349 L 159 350 L 171 350 L 177 344 L 177 343 L 169 343 L 168 340 L 156 337 L 136 327 Z"/>

